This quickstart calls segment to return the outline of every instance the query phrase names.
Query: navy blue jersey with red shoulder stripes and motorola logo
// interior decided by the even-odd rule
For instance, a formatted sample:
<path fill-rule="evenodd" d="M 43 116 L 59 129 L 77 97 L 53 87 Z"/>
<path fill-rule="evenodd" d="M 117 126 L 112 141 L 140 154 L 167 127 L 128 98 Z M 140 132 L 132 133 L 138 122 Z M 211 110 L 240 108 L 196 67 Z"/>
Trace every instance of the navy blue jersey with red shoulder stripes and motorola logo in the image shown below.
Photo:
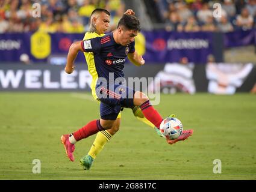
<path fill-rule="evenodd" d="M 109 73 L 117 77 L 124 77 L 123 67 L 128 53 L 135 52 L 134 41 L 128 46 L 117 44 L 113 32 L 82 41 L 84 52 L 93 52 L 98 77 L 104 77 L 109 82 Z"/>

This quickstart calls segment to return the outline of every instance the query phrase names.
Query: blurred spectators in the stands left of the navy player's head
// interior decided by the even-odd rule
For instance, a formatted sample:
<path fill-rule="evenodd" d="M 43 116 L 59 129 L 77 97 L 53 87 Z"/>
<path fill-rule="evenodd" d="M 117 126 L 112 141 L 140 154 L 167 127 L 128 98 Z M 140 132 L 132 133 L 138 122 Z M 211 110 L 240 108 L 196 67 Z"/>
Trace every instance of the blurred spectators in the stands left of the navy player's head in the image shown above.
<path fill-rule="evenodd" d="M 33 17 L 33 4 L 40 4 L 40 17 Z M 36 4 L 35 4 L 36 5 Z M 95 8 L 111 13 L 111 29 L 125 12 L 121 0 L 0 0 L 0 34 L 4 32 L 80 33 L 89 29 Z M 110 29 L 110 30 L 111 30 Z"/>

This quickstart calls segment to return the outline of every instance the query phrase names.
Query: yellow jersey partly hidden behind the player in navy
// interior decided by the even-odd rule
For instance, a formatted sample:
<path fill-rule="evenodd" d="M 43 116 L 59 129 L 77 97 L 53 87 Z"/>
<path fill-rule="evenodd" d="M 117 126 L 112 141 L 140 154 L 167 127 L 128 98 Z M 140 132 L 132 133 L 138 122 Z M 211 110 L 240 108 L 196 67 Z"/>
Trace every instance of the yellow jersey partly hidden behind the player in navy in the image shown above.
<path fill-rule="evenodd" d="M 102 37 L 104 35 L 105 34 L 99 35 L 96 32 L 86 32 L 86 34 L 84 34 L 84 39 L 83 40 L 88 40 L 90 38 L 95 38 L 95 37 Z M 87 62 L 87 65 L 88 65 L 88 71 L 92 76 L 92 83 L 91 83 L 92 96 L 96 100 L 97 95 L 96 95 L 95 87 L 96 87 L 96 83 L 97 83 L 97 80 L 98 80 L 98 73 L 97 73 L 96 67 L 95 67 L 94 55 L 93 55 L 93 53 L 84 52 L 84 56 L 86 57 L 86 62 Z"/>

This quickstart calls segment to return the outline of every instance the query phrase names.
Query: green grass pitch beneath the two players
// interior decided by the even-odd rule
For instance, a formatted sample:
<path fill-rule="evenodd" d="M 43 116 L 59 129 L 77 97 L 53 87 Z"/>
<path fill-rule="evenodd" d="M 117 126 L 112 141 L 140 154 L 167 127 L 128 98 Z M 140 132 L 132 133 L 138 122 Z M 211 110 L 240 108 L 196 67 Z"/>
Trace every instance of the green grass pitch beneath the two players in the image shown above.
<path fill-rule="evenodd" d="M 1 92 L 0 179 L 256 179 L 255 95 L 161 95 L 155 108 L 163 117 L 175 113 L 193 136 L 168 145 L 125 109 L 119 132 L 83 170 L 79 160 L 95 136 L 76 144 L 74 162 L 60 136 L 99 118 L 89 93 Z M 34 159 L 40 174 L 32 171 Z M 220 174 L 213 173 L 215 159 Z"/>

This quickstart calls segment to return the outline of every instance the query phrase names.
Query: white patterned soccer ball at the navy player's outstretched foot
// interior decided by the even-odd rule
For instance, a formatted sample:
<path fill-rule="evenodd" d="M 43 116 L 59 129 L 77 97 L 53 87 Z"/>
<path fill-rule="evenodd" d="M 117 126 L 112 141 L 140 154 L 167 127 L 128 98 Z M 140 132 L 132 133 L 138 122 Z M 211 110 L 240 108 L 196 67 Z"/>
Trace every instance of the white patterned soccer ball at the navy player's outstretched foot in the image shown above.
<path fill-rule="evenodd" d="M 161 122 L 160 132 L 166 139 L 177 139 L 183 133 L 183 125 L 179 119 L 172 115 Z"/>

